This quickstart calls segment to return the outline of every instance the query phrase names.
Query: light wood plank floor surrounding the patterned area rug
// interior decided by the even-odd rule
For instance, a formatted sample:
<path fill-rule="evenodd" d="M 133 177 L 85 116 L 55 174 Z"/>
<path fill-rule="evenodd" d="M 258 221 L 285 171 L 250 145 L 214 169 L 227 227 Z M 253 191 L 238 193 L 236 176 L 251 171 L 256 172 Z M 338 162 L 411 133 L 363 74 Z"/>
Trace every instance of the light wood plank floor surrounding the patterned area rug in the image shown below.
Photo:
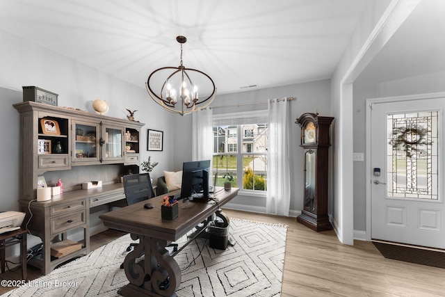
<path fill-rule="evenodd" d="M 410 264 L 380 255 L 372 243 L 339 242 L 333 231 L 314 232 L 296 218 L 224 210 L 227 216 L 289 225 L 282 296 L 445 296 L 445 269 Z M 107 230 L 91 236 L 91 250 L 122 236 Z M 42 274 L 29 266 L 29 279 Z M 4 276 L 3 276 L 4 275 Z M 3 273 L 1 278 L 19 279 Z M 0 294 L 10 288 L 0 287 Z"/>

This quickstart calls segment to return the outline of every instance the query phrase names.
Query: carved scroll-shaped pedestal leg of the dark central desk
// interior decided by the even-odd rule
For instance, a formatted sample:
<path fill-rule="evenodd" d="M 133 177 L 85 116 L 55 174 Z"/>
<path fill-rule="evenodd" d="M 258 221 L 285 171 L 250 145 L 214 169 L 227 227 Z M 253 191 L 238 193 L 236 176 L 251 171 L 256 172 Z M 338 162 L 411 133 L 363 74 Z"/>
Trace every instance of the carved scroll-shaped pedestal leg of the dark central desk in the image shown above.
<path fill-rule="evenodd" d="M 139 243 L 124 261 L 125 275 L 130 283 L 118 293 L 122 296 L 177 296 L 181 270 L 165 250 L 167 241 L 136 234 L 131 234 L 131 239 L 139 239 Z M 143 255 L 145 259 L 136 263 Z M 161 289 L 160 284 L 167 278 L 170 278 L 168 287 Z"/>

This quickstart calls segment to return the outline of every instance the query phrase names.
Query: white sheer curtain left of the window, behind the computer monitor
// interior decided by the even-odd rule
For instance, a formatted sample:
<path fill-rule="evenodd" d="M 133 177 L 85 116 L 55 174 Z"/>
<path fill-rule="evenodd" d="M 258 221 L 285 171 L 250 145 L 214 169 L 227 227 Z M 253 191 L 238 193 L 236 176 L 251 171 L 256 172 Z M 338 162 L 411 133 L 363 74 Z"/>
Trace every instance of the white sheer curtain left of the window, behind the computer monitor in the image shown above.
<path fill-rule="evenodd" d="M 192 161 L 210 160 L 210 168 L 213 168 L 213 111 L 202 109 L 192 113 L 192 116 Z M 213 179 L 209 179 L 209 186 L 213 186 Z"/>

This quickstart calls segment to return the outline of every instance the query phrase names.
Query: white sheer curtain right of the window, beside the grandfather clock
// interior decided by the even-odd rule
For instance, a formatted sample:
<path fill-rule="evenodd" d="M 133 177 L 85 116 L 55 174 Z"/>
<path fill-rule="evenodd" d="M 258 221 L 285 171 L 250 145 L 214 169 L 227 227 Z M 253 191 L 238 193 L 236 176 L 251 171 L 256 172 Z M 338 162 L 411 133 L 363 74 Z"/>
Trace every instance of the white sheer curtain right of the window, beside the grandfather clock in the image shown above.
<path fill-rule="evenodd" d="M 289 216 L 291 185 L 289 170 L 289 102 L 287 98 L 268 103 L 269 143 L 266 212 Z"/>

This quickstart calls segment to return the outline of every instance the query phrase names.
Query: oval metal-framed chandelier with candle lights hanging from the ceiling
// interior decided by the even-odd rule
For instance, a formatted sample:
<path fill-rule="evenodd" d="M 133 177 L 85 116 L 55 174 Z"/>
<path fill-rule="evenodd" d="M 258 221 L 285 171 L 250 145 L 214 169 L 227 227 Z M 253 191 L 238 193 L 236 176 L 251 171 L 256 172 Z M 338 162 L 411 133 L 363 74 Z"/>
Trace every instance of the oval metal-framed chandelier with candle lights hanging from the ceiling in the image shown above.
<path fill-rule="evenodd" d="M 209 75 L 182 65 L 182 45 L 187 38 L 177 36 L 181 45 L 181 64 L 179 67 L 162 67 L 149 75 L 145 86 L 150 97 L 165 110 L 185 115 L 204 109 L 215 98 L 215 83 Z M 166 77 L 166 78 L 165 78 Z M 154 86 L 158 86 L 156 92 Z M 200 87 L 198 92 L 198 86 Z M 205 99 L 199 97 L 199 93 Z M 180 100 L 178 102 L 178 100 Z"/>

